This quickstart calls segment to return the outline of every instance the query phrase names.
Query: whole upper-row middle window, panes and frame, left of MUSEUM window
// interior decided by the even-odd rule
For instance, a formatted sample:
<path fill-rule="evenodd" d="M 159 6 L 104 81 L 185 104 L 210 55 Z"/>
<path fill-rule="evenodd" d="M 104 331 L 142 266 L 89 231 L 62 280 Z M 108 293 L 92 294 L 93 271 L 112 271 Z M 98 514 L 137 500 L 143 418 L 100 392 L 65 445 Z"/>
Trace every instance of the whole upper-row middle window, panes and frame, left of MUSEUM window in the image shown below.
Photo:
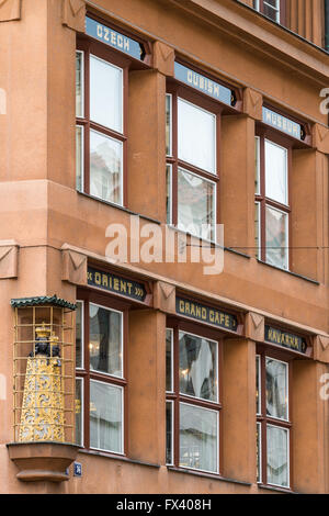
<path fill-rule="evenodd" d="M 220 109 L 184 88 L 169 88 L 167 124 L 167 223 L 216 242 Z"/>

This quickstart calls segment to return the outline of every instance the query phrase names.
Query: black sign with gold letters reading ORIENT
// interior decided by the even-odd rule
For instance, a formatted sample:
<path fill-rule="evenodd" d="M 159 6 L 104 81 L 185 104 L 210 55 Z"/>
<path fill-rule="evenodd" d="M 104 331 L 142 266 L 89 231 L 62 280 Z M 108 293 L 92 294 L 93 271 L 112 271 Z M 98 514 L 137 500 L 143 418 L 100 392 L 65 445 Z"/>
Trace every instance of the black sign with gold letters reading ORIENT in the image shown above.
<path fill-rule="evenodd" d="M 102 270 L 97 270 L 91 267 L 88 267 L 88 284 L 141 302 L 145 301 L 147 294 L 143 283 L 127 280 L 126 278 L 112 274 L 112 272 L 103 272 Z"/>

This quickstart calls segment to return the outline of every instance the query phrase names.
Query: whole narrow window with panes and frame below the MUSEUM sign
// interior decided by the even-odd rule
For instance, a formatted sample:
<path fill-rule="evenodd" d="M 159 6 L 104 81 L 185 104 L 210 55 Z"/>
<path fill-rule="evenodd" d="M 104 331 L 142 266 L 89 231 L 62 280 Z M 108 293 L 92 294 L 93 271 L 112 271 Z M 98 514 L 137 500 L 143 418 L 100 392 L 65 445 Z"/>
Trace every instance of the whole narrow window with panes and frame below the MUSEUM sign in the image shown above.
<path fill-rule="evenodd" d="M 279 142 L 279 141 L 277 141 Z M 281 269 L 290 268 L 291 150 L 282 142 L 256 137 L 256 248 L 257 257 Z"/>

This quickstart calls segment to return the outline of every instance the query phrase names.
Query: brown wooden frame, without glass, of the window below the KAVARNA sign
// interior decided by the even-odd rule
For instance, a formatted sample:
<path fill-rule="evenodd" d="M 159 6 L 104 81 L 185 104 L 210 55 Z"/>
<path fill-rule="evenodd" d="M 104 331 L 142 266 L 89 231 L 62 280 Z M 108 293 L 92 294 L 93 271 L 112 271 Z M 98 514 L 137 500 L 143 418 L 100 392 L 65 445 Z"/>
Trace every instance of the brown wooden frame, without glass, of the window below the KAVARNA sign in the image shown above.
<path fill-rule="evenodd" d="M 261 469 L 261 476 L 258 483 L 260 485 L 269 485 L 273 487 L 279 487 L 282 490 L 286 490 L 291 492 L 293 490 L 293 420 L 292 420 L 292 402 L 293 402 L 293 393 L 292 393 L 292 384 L 293 384 L 293 360 L 294 357 L 292 354 L 284 352 L 281 350 L 276 350 L 271 348 L 266 345 L 258 345 L 256 356 L 260 357 L 260 407 L 261 413 L 257 414 L 257 424 L 261 425 L 261 446 L 260 446 L 260 469 Z M 288 381 L 288 389 L 287 389 L 287 419 L 279 419 L 275 417 L 268 416 L 266 414 L 266 369 L 265 369 L 265 359 L 274 359 L 282 362 L 287 363 L 287 381 Z M 277 428 L 283 428 L 288 431 L 288 486 L 280 486 L 276 484 L 268 483 L 268 440 L 266 440 L 266 427 L 268 425 L 275 426 Z"/>

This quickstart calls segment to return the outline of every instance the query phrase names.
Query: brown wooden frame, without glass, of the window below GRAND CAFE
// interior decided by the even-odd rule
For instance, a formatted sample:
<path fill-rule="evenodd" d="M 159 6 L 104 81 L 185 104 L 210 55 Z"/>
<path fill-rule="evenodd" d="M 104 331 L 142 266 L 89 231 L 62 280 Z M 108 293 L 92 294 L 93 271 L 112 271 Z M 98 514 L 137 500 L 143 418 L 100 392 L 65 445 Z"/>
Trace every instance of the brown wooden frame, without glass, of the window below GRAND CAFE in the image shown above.
<path fill-rule="evenodd" d="M 173 435 L 172 435 L 172 456 L 173 456 L 173 464 L 167 464 L 168 467 L 173 465 L 180 470 L 186 471 L 197 471 L 200 473 L 208 473 L 220 476 L 220 471 L 223 469 L 223 446 L 222 446 L 222 435 L 223 435 L 223 417 L 220 411 L 223 408 L 222 397 L 223 397 L 223 337 L 218 332 L 208 328 L 202 327 L 195 323 L 180 321 L 175 318 L 168 317 L 167 321 L 167 329 L 172 329 L 173 334 L 173 368 L 172 368 L 172 384 L 173 391 L 166 392 L 166 403 L 172 402 L 173 403 Z M 179 378 L 179 332 L 185 332 L 188 334 L 195 335 L 201 338 L 206 338 L 217 343 L 217 389 L 218 389 L 218 400 L 217 402 L 212 402 L 207 400 L 202 400 L 193 396 L 189 396 L 185 394 L 180 393 L 180 378 Z M 214 412 L 217 412 L 218 417 L 218 425 L 217 425 L 217 465 L 218 471 L 205 471 L 196 468 L 186 468 L 180 465 L 180 403 L 185 403 L 188 405 L 196 406 L 200 408 L 207 408 Z M 167 456 L 167 453 L 166 453 Z"/>

